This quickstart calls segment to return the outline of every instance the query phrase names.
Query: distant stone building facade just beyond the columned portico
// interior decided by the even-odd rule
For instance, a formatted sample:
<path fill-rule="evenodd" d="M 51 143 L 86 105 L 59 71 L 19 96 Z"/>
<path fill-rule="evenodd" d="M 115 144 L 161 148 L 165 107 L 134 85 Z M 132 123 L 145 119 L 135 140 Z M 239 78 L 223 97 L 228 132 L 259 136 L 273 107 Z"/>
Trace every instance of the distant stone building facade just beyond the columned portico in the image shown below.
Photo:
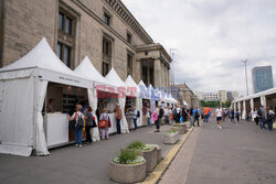
<path fill-rule="evenodd" d="M 192 91 L 192 89 L 184 83 L 184 84 L 177 84 L 173 87 L 174 90 L 178 90 L 174 94 L 177 95 L 178 101 L 183 101 L 190 106 L 190 107 L 199 107 L 200 100 L 197 95 Z"/>

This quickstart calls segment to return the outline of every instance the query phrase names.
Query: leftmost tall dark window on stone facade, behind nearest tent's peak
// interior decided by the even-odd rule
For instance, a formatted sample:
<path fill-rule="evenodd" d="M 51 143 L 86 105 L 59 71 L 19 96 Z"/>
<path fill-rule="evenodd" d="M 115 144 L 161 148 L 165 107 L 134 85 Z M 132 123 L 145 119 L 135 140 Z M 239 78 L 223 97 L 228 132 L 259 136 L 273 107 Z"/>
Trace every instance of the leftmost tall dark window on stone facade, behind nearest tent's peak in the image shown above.
<path fill-rule="evenodd" d="M 64 9 L 60 9 L 59 12 L 59 36 L 56 45 L 56 55 L 61 61 L 73 68 L 73 51 L 75 42 L 75 18 Z"/>

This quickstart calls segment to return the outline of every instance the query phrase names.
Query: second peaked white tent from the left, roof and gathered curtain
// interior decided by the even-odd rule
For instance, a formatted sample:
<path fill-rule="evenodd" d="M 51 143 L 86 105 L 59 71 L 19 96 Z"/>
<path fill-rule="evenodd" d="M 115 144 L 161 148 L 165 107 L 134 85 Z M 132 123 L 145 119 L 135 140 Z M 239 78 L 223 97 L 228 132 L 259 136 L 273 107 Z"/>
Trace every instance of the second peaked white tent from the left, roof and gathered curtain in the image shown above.
<path fill-rule="evenodd" d="M 89 61 L 89 58 L 87 56 L 84 57 L 84 59 L 81 62 L 81 64 L 75 68 L 74 71 L 76 74 L 82 75 L 83 77 L 94 80 L 95 85 L 93 87 L 93 89 L 88 89 L 88 100 L 89 100 L 89 105 L 93 109 L 93 113 L 94 116 L 96 115 L 96 110 L 97 110 L 97 85 L 103 85 L 103 88 L 113 86 L 112 84 L 109 84 L 109 80 L 107 80 L 105 77 L 103 77 L 98 71 L 94 67 L 94 65 L 92 64 L 92 62 Z M 96 119 L 96 123 L 98 123 L 97 119 Z M 98 128 L 94 128 L 92 129 L 93 131 L 93 141 L 99 141 L 99 132 L 98 132 Z"/>

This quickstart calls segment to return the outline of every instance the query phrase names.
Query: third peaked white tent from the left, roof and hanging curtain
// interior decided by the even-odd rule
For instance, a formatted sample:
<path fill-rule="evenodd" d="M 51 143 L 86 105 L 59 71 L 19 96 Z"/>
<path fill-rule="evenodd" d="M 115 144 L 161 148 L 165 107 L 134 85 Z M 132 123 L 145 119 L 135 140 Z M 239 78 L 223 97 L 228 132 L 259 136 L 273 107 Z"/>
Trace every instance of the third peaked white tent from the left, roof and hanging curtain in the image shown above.
<path fill-rule="evenodd" d="M 114 68 L 109 71 L 109 73 L 106 75 L 105 78 L 108 79 L 109 83 L 113 82 L 113 84 L 116 86 L 116 93 L 118 94 L 119 106 L 121 110 L 124 110 L 126 106 L 127 85 L 125 84 L 125 82 L 121 80 L 121 78 L 118 76 L 118 74 Z M 123 113 L 123 119 L 120 120 L 120 128 L 121 128 L 121 133 L 129 132 L 125 113 Z"/>

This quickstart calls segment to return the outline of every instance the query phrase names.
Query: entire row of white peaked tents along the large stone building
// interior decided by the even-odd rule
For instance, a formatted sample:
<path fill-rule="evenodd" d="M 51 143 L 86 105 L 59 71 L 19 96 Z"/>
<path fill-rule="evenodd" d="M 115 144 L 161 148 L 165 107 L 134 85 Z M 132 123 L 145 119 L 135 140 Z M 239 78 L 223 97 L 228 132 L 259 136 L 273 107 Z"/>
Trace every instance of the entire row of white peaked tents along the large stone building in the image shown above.
<path fill-rule="evenodd" d="M 139 110 L 142 108 L 142 98 L 152 100 L 152 91 L 157 97 L 153 100 L 177 104 L 171 95 L 162 96 L 162 93 L 152 86 L 146 87 L 142 80 L 139 86 L 131 76 L 123 82 L 114 68 L 103 77 L 88 57 L 85 57 L 75 71 L 71 71 L 43 37 L 22 58 L 0 68 L 0 153 L 28 156 L 35 151 L 36 155 L 50 154 L 42 116 L 49 83 L 86 88 L 94 112 L 97 108 L 96 94 L 99 85 L 106 86 L 107 88 L 103 89 L 106 91 L 108 87 L 115 88 L 115 93 L 120 88 L 127 96 L 134 96 Z M 136 88 L 136 91 L 128 91 L 128 88 Z M 126 98 L 118 98 L 121 109 L 125 108 L 125 102 Z M 95 131 L 94 141 L 99 140 L 98 130 Z M 125 115 L 121 131 L 129 132 Z"/>

